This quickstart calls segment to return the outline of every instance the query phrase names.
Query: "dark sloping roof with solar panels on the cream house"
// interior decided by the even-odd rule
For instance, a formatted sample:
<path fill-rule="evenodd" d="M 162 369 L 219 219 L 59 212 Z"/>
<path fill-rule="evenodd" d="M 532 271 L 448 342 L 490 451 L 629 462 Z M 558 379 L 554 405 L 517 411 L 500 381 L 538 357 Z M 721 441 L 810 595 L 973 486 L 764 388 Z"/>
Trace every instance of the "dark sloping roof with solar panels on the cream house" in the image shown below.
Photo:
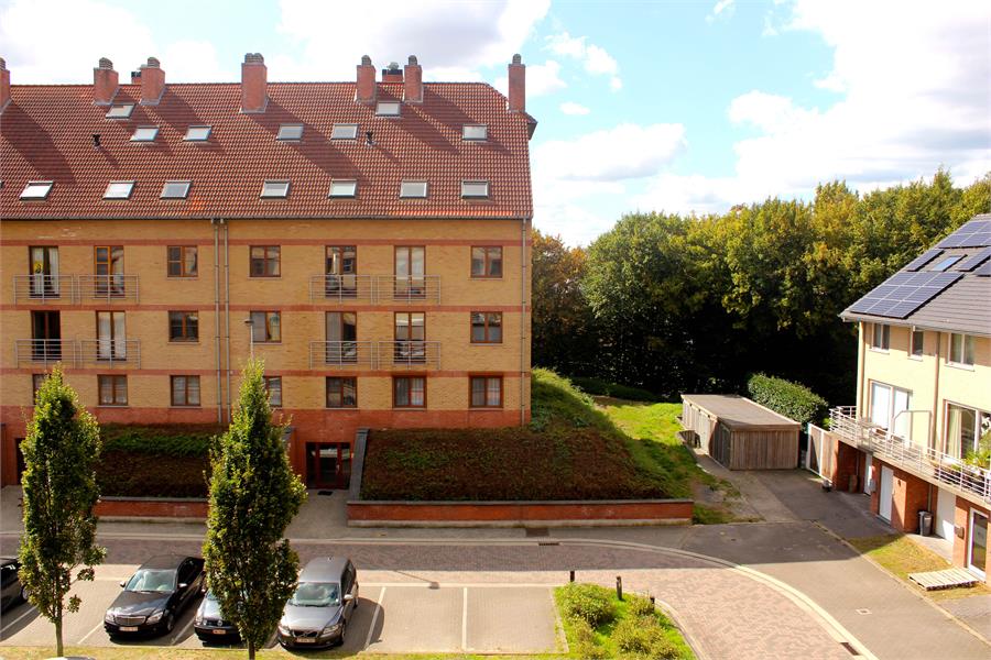
<path fill-rule="evenodd" d="M 840 316 L 991 337 L 991 213 L 974 216 Z"/>

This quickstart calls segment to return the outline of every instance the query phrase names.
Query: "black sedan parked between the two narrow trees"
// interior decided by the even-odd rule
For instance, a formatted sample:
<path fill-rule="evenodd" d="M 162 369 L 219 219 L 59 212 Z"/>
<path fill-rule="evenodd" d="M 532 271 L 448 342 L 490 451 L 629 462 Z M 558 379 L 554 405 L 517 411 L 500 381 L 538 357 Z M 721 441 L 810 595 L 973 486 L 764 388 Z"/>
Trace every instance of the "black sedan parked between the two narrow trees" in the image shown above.
<path fill-rule="evenodd" d="M 171 632 L 182 610 L 200 593 L 203 580 L 198 557 L 153 557 L 120 583 L 123 591 L 104 615 L 104 628 L 111 637 Z"/>

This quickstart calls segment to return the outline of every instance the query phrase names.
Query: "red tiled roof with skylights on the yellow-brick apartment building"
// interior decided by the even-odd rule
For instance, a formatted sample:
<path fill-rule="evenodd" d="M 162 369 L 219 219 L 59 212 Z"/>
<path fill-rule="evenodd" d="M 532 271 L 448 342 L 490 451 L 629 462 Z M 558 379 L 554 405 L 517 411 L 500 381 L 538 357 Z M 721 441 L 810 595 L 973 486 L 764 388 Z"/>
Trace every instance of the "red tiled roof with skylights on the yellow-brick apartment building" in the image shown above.
<path fill-rule="evenodd" d="M 402 84 L 378 84 L 400 100 Z M 481 82 L 426 82 L 423 103 L 400 118 L 356 102 L 353 82 L 270 82 L 265 112 L 240 112 L 238 84 L 166 85 L 157 106 L 138 103 L 122 85 L 115 103 L 134 102 L 128 120 L 106 119 L 88 85 L 11 87 L 0 114 L 0 218 L 371 218 L 531 217 L 529 124 L 505 97 Z M 276 142 L 282 123 L 303 123 L 302 142 Z M 331 141 L 335 123 L 357 123 L 358 139 Z M 488 141 L 465 142 L 461 125 L 488 125 Z M 206 143 L 186 128 L 213 127 Z M 157 125 L 152 143 L 130 141 Z M 374 145 L 364 133 L 373 133 Z M 100 135 L 100 148 L 91 135 Z M 331 178 L 358 179 L 355 199 L 328 199 Z M 137 182 L 129 200 L 105 200 L 111 180 Z M 162 200 L 166 180 L 190 179 L 185 200 Z M 288 179 L 287 199 L 259 199 L 265 179 Z M 427 199 L 400 199 L 400 182 L 426 179 Z M 462 179 L 488 179 L 488 200 L 462 200 Z M 29 180 L 53 180 L 46 201 L 21 201 Z"/>

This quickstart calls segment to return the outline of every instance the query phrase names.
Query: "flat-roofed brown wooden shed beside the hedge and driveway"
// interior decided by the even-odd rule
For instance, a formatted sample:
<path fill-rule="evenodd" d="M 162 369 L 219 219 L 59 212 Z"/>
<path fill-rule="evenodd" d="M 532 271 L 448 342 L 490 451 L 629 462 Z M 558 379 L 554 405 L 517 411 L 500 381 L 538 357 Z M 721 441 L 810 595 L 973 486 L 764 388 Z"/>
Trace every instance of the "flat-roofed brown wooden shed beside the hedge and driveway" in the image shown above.
<path fill-rule="evenodd" d="M 683 394 L 682 426 L 730 470 L 798 466 L 802 425 L 732 394 Z"/>

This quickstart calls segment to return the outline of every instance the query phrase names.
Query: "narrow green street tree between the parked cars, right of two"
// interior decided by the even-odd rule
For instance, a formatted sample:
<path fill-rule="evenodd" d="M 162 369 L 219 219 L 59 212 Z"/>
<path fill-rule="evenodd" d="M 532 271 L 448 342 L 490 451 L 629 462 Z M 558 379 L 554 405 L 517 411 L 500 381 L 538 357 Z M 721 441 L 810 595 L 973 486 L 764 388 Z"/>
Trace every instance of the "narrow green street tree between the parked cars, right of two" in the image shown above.
<path fill-rule="evenodd" d="M 306 488 L 290 466 L 260 361 L 244 367 L 238 409 L 210 455 L 210 514 L 203 546 L 207 581 L 248 658 L 275 632 L 296 585 L 298 556 L 283 538 Z"/>

